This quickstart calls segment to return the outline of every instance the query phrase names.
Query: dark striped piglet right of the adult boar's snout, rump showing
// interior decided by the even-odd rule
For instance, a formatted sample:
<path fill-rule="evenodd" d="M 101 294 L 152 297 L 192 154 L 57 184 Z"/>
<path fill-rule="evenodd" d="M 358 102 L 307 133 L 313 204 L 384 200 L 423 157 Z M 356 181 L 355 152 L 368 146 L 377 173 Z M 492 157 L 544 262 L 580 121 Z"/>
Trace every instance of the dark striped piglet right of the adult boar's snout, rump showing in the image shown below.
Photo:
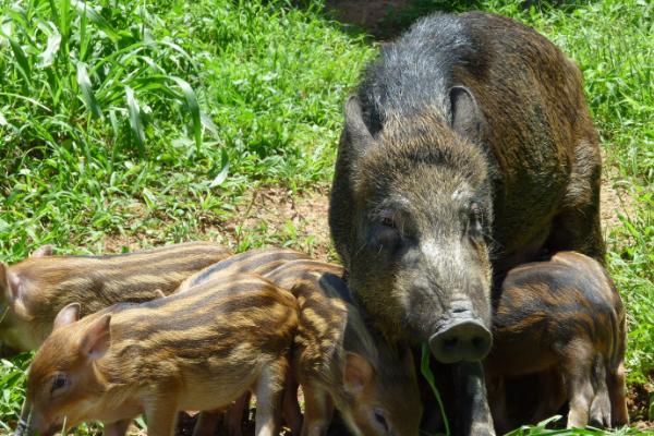
<path fill-rule="evenodd" d="M 532 422 L 555 414 L 567 401 L 568 427 L 629 423 L 625 310 L 597 261 L 561 252 L 549 262 L 513 268 L 493 324 L 495 343 L 485 370 L 500 429 L 511 426 L 505 382 L 529 374 L 538 375 L 543 397 Z"/>

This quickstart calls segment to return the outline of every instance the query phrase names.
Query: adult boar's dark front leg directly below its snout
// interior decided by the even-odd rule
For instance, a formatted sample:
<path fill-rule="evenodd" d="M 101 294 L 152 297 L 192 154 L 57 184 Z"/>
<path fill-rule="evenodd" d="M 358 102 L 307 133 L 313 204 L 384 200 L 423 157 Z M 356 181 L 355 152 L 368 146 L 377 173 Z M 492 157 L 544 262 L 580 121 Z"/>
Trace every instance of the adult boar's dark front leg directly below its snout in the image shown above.
<path fill-rule="evenodd" d="M 455 370 L 457 435 L 495 436 L 481 362 L 461 362 Z"/>

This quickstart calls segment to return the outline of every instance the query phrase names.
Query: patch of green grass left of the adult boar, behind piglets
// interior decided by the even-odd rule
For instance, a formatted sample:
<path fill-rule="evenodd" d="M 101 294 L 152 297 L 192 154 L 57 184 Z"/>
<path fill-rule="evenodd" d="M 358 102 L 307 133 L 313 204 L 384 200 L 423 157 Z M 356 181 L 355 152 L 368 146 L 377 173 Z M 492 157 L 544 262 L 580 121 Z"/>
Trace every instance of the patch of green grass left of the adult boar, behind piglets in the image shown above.
<path fill-rule="evenodd" d="M 325 181 L 370 52 L 276 1 L 0 4 L 9 261 L 44 242 L 179 240 L 252 183 Z"/>

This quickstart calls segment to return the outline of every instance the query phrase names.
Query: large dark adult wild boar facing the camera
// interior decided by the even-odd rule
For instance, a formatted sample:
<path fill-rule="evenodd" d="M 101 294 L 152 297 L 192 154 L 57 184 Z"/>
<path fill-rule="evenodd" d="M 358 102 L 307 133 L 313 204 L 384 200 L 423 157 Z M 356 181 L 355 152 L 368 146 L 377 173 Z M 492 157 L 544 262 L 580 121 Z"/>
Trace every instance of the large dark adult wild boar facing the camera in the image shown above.
<path fill-rule="evenodd" d="M 475 362 L 492 344 L 494 283 L 545 251 L 604 256 L 581 81 L 512 20 L 433 15 L 383 49 L 346 104 L 329 225 L 349 284 L 388 337 L 475 374 L 462 374 L 479 405 L 465 432 L 488 424 Z"/>

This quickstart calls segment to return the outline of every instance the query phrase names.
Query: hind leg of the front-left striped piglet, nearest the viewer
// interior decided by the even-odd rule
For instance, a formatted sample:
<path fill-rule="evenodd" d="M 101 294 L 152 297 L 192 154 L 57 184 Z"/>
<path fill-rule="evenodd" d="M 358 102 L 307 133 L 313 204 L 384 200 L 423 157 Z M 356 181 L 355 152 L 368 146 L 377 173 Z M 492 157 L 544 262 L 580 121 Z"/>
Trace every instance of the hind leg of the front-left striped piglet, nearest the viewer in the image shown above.
<path fill-rule="evenodd" d="M 279 359 L 264 367 L 256 380 L 256 436 L 277 436 L 281 422 L 281 396 L 283 376 L 288 363 Z"/>

